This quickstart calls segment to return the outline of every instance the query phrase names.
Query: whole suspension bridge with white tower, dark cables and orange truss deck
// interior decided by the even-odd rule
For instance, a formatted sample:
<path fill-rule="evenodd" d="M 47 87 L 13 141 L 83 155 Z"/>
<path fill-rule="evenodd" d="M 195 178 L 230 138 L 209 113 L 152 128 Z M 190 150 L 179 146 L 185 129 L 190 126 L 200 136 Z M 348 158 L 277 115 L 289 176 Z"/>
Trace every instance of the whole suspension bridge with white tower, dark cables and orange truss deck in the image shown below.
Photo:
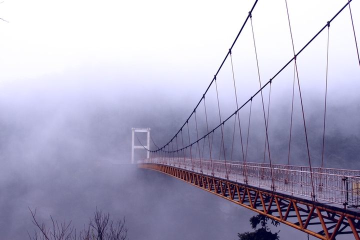
<path fill-rule="evenodd" d="M 341 66 L 330 64 L 331 59 L 336 58 L 330 54 L 331 39 L 338 34 L 336 30 L 331 34 L 331 26 L 339 17 L 347 19 L 349 34 L 340 38 L 350 39 L 351 44 L 346 41 L 340 45 L 346 45 L 351 52 L 351 59 L 346 59 L 353 63 L 350 78 L 359 81 L 356 30 L 360 25 L 354 21 L 359 8 L 355 8 L 357 11 L 351 8 L 355 2 L 344 1 L 318 31 L 296 49 L 291 11 L 285 0 L 290 57 L 277 69 L 272 68 L 274 73 L 264 81 L 258 60 L 261 53 L 256 47 L 258 26 L 254 20 L 257 4 L 261 3 L 256 0 L 244 16 L 220 67 L 173 137 L 158 146 L 149 135 L 150 128 L 132 129 L 132 162 L 134 149 L 145 149 L 146 156 L 137 161 L 138 167 L 164 172 L 320 239 L 340 236 L 360 239 L 360 170 L 356 170 L 359 156 L 351 156 L 342 162 L 347 165 L 341 165 L 340 158 L 331 158 L 329 153 L 341 149 L 338 144 L 341 139 L 335 141 L 329 132 L 336 128 L 333 118 L 342 113 L 331 107 L 328 88 L 330 79 L 343 82 L 329 74 L 330 69 Z M 358 2 L 356 4 L 358 7 Z M 242 54 L 242 37 L 250 37 L 251 44 L 246 45 L 246 49 L 252 49 L 252 55 L 245 56 L 245 61 L 252 60 L 253 67 L 239 71 L 252 70 L 251 77 L 236 75 L 236 67 L 241 67 L 238 56 Z M 324 67 L 304 72 L 306 58 L 317 59 L 317 55 L 311 56 L 311 46 L 316 41 L 322 42 Z M 341 48 L 342 51 L 345 48 Z M 347 68 L 344 71 L 348 71 Z M 318 78 L 318 72 L 322 74 L 322 91 L 313 91 L 315 96 L 310 96 L 304 93 L 303 82 L 309 75 Z M 241 77 L 245 83 L 240 82 Z M 252 88 L 249 82 L 253 83 Z M 275 83 L 290 87 L 287 90 L 278 87 L 276 91 L 272 89 Z M 333 84 L 335 88 L 338 86 Z M 279 107 L 275 109 L 274 105 Z M 281 108 L 283 105 L 287 107 Z M 357 119 L 359 117 L 357 115 Z M 355 131 L 358 121 L 353 124 L 349 127 Z M 147 133 L 146 144 L 136 132 Z M 134 144 L 135 136 L 140 145 Z M 354 143 L 355 152 L 360 148 L 358 142 Z M 340 167 L 332 167 L 333 164 Z"/>

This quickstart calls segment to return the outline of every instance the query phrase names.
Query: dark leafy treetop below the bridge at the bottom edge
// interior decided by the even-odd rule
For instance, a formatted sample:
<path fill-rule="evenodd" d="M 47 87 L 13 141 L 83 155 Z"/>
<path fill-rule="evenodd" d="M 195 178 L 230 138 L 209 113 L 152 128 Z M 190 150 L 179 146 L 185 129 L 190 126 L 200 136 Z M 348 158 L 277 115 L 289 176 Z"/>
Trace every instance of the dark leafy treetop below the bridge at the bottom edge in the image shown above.
<path fill-rule="evenodd" d="M 255 216 L 250 217 L 250 224 L 251 228 L 255 229 L 253 232 L 244 232 L 244 233 L 237 233 L 239 240 L 278 240 L 279 237 L 277 236 L 278 232 L 272 233 L 269 228 L 267 227 L 267 220 L 270 218 L 263 214 L 257 214 Z M 256 229 L 258 224 L 261 224 L 261 227 Z M 278 226 L 280 222 L 271 219 L 271 224 L 274 226 Z"/>

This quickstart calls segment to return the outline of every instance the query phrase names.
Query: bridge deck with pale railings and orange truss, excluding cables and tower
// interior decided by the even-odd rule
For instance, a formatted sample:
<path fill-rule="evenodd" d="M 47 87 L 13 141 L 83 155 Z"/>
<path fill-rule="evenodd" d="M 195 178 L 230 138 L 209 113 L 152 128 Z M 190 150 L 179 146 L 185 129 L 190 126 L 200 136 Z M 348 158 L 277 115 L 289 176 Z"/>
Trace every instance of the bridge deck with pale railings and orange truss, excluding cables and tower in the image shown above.
<path fill-rule="evenodd" d="M 305 166 L 172 157 L 147 158 L 138 166 L 177 177 L 320 239 L 352 234 L 360 240 L 359 171 L 312 168 L 310 174 Z"/>

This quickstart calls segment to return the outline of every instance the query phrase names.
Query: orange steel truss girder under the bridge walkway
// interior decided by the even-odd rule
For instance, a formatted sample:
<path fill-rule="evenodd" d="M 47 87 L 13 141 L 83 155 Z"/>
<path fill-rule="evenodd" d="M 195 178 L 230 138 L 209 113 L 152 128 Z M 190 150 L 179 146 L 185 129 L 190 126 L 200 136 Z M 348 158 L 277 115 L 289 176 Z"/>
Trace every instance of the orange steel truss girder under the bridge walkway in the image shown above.
<path fill-rule="evenodd" d="M 161 171 L 257 213 L 264 214 L 320 239 L 335 239 L 338 234 L 352 234 L 360 240 L 360 212 L 301 199 L 276 191 L 203 175 L 186 169 L 155 163 L 138 164 L 140 168 Z"/>

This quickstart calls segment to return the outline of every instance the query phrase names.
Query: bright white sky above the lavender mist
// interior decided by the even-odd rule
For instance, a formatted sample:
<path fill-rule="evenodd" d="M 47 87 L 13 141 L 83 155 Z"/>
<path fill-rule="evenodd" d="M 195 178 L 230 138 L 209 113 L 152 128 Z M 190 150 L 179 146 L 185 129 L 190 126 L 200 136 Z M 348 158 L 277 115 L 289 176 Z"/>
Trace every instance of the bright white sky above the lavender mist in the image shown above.
<path fill-rule="evenodd" d="M 346 1 L 288 0 L 295 51 Z M 170 80 L 173 85 L 181 85 L 185 78 L 199 82 L 202 93 L 252 4 L 252 0 L 4 0 L 0 17 L 9 22 L 0 21 L 0 84 L 38 82 L 44 76 L 45 81 L 59 81 L 61 74 L 101 68 L 104 78 L 113 74 L 130 85 L 136 77 L 154 84 Z M 351 7 L 360 41 L 358 0 Z M 259 1 L 252 15 L 260 69 L 268 79 L 292 56 L 285 1 Z M 239 48 L 241 41 L 247 44 L 241 48 L 245 64 L 246 54 L 254 55 L 249 26 L 237 44 Z M 350 27 L 345 9 L 331 24 L 330 51 L 356 64 Z M 326 34 L 322 35 L 323 46 Z M 324 64 L 323 48 L 314 46 L 311 53 L 307 64 L 319 56 Z"/>

